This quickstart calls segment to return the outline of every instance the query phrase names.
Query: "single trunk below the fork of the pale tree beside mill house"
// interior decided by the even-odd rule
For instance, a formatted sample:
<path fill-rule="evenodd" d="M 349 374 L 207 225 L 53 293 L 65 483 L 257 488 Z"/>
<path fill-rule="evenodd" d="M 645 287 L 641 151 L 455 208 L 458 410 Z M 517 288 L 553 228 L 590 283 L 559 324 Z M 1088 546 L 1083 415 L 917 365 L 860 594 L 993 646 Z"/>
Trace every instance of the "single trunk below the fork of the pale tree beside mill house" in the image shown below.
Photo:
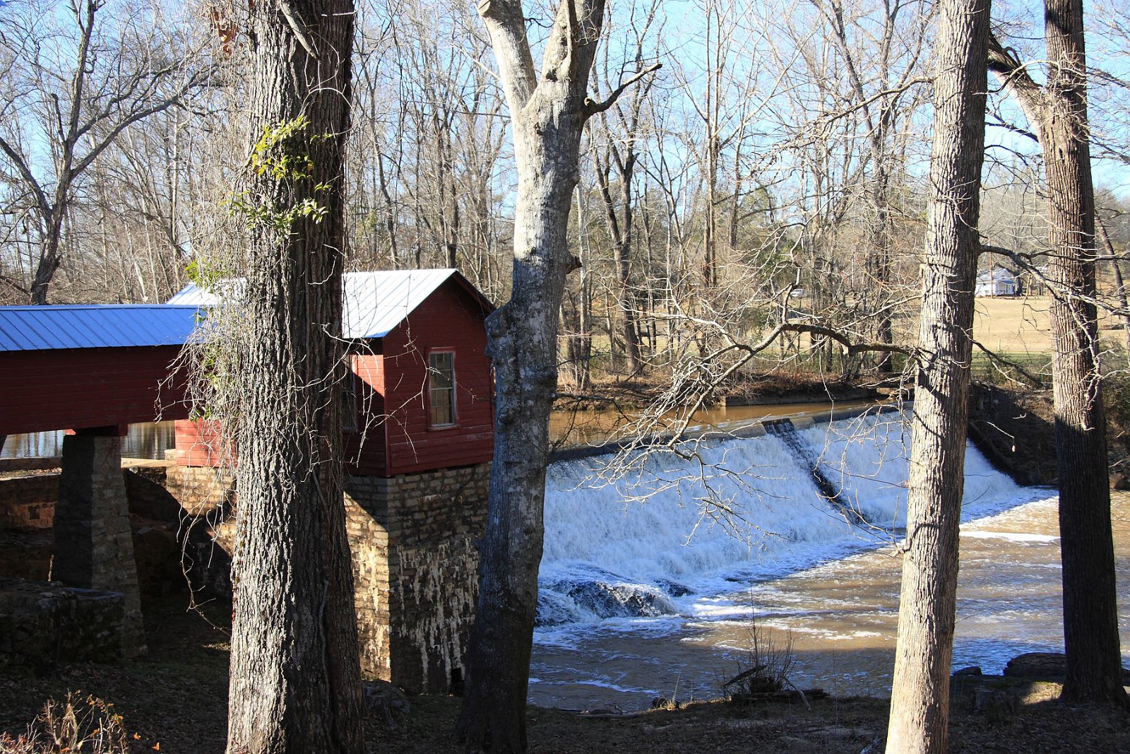
<path fill-rule="evenodd" d="M 520 145 L 514 281 L 511 300 L 487 322 L 497 384 L 495 452 L 460 731 L 468 744 L 493 752 L 527 746 L 558 310 L 565 276 L 575 268 L 568 214 L 583 120 L 562 112 L 563 101 L 528 106 L 534 122 L 513 124 Z"/>

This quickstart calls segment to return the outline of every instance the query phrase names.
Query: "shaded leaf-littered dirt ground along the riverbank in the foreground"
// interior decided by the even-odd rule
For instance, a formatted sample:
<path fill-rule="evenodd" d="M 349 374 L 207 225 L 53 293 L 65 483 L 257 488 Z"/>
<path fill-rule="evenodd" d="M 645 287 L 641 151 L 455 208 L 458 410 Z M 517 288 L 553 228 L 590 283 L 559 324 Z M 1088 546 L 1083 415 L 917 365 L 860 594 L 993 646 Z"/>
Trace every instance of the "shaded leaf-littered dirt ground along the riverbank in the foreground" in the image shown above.
<path fill-rule="evenodd" d="M 221 622 L 223 609 L 210 613 Z M 68 691 L 80 690 L 114 705 L 124 719 L 131 751 L 223 752 L 225 631 L 186 613 L 181 598 L 150 606 L 146 619 L 149 652 L 137 661 L 38 671 L 6 668 L 0 677 L 0 731 L 19 735 L 49 699 L 60 700 Z M 1130 713 L 1125 711 L 1060 704 L 1054 701 L 1057 684 L 1028 684 L 1006 693 L 1016 697 L 1014 709 L 975 712 L 966 697 L 955 701 L 950 752 L 1130 754 Z M 398 713 L 392 725 L 380 713 L 366 720 L 370 752 L 462 752 L 452 736 L 458 697 L 414 696 L 410 704 L 410 712 Z M 860 754 L 881 751 L 886 714 L 887 702 L 873 699 L 815 700 L 811 709 L 799 702 L 713 701 L 626 717 L 531 707 L 528 734 L 530 752 L 540 754 Z"/>

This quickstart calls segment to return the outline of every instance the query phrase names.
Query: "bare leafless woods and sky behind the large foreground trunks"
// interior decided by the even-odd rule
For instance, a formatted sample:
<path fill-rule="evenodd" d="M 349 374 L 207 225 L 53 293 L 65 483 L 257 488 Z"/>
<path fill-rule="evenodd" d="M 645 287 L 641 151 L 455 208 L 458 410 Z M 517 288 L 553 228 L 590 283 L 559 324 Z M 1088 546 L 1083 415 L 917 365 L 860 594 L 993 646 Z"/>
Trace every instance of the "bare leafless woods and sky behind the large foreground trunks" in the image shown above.
<path fill-rule="evenodd" d="M 847 375 L 898 366 L 921 288 L 932 8 L 610 6 L 590 97 L 662 69 L 592 118 L 582 141 L 570 232 L 582 268 L 560 307 L 566 384 L 666 374 L 687 359 L 684 372 L 711 381 L 770 336 L 763 369 L 782 357 Z M 472 10 L 359 3 L 347 258 L 351 269 L 459 267 L 503 302 L 513 144 Z M 551 11 L 528 12 L 531 38 L 544 40 Z M 0 303 L 166 300 L 193 260 L 236 242 L 225 227 L 227 187 L 247 157 L 233 137 L 245 42 L 195 3 L 26 0 L 0 16 Z M 1111 242 L 1099 289 L 1118 307 L 1130 15 L 1111 3 L 1090 18 L 1093 154 Z M 1035 15 L 998 3 L 994 21 L 1018 60 L 1041 59 Z M 1040 148 L 998 89 L 981 222 L 992 252 L 980 265 L 1042 293 Z"/>

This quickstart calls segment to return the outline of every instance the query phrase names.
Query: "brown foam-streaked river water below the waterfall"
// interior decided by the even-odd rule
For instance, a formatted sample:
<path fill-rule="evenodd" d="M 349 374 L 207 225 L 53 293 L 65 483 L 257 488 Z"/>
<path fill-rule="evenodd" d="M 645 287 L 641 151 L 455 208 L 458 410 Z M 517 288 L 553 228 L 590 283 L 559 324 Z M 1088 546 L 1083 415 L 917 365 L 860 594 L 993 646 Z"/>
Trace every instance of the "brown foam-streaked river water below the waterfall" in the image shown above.
<path fill-rule="evenodd" d="M 1049 494 L 1052 494 L 1049 491 Z M 1119 625 L 1130 659 L 1130 495 L 1113 493 Z M 963 525 L 954 669 L 999 674 L 1016 655 L 1062 651 L 1055 500 Z M 534 647 L 530 700 L 566 709 L 634 710 L 652 699 L 714 697 L 749 667 L 756 635 L 791 641 L 789 679 L 835 695 L 890 693 L 901 560 L 892 547 L 739 592 L 747 616 L 594 629 Z M 753 616 L 750 619 L 749 616 Z"/>

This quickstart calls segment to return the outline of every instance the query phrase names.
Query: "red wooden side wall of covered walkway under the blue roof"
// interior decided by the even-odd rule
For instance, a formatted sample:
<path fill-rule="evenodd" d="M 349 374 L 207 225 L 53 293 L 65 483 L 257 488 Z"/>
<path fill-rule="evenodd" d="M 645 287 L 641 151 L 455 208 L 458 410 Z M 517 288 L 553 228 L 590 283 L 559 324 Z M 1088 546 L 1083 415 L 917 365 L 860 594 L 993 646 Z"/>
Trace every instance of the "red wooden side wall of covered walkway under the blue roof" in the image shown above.
<path fill-rule="evenodd" d="M 0 434 L 184 418 L 183 382 L 163 384 L 177 353 L 180 346 L 5 352 Z"/>

